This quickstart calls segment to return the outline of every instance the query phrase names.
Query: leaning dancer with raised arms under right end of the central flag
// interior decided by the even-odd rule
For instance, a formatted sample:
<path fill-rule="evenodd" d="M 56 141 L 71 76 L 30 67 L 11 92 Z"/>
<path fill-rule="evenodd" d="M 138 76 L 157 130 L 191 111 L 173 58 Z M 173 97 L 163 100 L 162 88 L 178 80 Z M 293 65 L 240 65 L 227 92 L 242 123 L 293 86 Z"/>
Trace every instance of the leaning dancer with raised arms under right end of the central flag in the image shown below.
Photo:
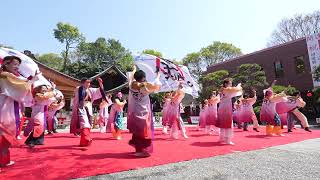
<path fill-rule="evenodd" d="M 171 137 L 173 139 L 178 139 L 179 130 L 181 130 L 182 136 L 188 138 L 186 134 L 186 129 L 184 127 L 181 115 L 180 115 L 180 103 L 184 98 L 185 93 L 183 91 L 183 85 L 180 83 L 177 91 L 171 100 L 168 109 L 169 126 L 171 128 Z"/>

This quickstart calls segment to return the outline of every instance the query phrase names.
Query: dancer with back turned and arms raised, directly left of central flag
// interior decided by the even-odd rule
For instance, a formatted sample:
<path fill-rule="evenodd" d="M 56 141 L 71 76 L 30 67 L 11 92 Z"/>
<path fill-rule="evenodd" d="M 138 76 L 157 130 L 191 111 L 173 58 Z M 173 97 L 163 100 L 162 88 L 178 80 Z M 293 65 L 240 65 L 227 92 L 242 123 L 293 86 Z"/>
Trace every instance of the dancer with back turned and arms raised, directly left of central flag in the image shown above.
<path fill-rule="evenodd" d="M 135 150 L 135 156 L 148 157 L 152 152 L 153 118 L 149 94 L 160 89 L 158 73 L 153 83 L 146 82 L 144 71 L 136 71 L 129 77 L 128 129 L 132 133 L 129 144 Z"/>

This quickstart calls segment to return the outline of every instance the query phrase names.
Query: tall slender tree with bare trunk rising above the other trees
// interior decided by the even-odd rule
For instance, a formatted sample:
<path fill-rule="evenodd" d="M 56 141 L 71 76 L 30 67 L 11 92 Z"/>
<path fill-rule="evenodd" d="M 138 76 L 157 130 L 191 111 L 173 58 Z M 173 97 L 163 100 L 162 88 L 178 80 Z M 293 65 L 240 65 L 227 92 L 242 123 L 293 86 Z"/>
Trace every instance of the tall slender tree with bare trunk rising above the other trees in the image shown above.
<path fill-rule="evenodd" d="M 65 71 L 69 63 L 70 49 L 74 48 L 75 45 L 81 42 L 84 38 L 77 27 L 72 26 L 69 23 L 62 22 L 57 24 L 57 28 L 53 30 L 53 34 L 60 43 L 65 43 L 63 51 L 63 71 Z"/>

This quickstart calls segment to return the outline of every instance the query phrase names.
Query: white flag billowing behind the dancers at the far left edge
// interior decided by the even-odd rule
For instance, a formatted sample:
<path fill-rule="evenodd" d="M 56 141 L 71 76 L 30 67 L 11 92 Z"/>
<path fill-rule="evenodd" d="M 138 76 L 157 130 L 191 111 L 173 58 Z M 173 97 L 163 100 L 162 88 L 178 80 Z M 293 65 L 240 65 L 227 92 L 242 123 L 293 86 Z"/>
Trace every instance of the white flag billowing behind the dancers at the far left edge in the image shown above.
<path fill-rule="evenodd" d="M 37 63 L 35 63 L 30 57 L 27 55 L 8 48 L 2 48 L 0 47 L 0 65 L 2 64 L 2 60 L 6 56 L 16 56 L 21 59 L 21 64 L 19 67 L 19 73 L 25 77 L 28 78 L 29 76 L 34 76 L 36 72 L 40 72 L 39 67 Z M 39 80 L 34 82 L 34 87 L 37 87 L 39 85 L 48 85 L 51 86 L 51 83 L 42 75 L 38 75 Z"/>

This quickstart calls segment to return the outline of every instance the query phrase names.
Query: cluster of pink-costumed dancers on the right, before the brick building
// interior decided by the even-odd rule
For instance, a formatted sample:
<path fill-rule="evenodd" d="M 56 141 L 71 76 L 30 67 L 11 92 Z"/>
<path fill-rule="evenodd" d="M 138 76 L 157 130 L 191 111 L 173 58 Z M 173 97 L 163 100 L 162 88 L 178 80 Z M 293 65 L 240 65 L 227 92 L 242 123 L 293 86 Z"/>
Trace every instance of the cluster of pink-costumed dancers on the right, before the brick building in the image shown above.
<path fill-rule="evenodd" d="M 300 93 L 297 92 L 293 96 L 284 92 L 275 94 L 271 87 L 263 93 L 260 121 L 266 124 L 266 135 L 284 136 L 283 126 L 287 125 L 288 132 L 292 132 L 295 121 L 299 121 L 305 131 L 311 132 L 306 116 L 299 111 L 299 108 L 306 105 Z M 232 104 L 231 99 L 234 97 L 239 98 Z M 231 145 L 234 144 L 231 141 L 233 123 L 237 123 L 238 127 L 243 126 L 244 131 L 248 131 L 248 123 L 253 123 L 253 130 L 259 132 L 259 123 L 253 110 L 256 100 L 256 91 L 253 90 L 250 95 L 250 92 L 243 92 L 241 84 L 232 87 L 232 79 L 225 79 L 219 94 L 213 91 L 209 99 L 203 101 L 199 130 L 204 128 L 209 134 L 212 134 L 212 130 L 216 130 L 220 137 L 219 141 Z"/>

